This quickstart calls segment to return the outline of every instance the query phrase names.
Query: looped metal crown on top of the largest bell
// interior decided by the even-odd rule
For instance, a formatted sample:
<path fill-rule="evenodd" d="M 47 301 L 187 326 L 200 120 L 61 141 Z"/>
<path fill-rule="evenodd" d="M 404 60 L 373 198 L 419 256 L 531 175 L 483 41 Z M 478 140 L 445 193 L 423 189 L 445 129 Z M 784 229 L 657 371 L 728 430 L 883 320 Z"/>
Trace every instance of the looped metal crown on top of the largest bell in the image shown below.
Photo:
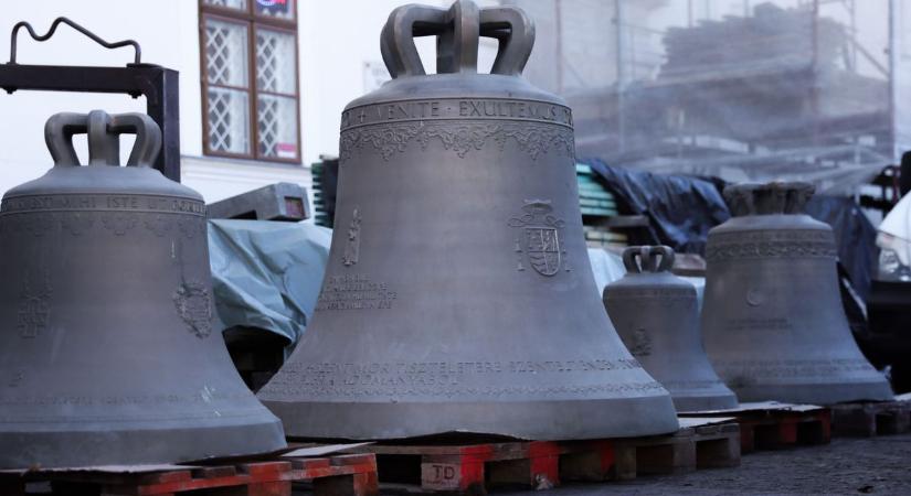
<path fill-rule="evenodd" d="M 380 50 L 392 78 L 426 75 L 414 36 L 437 36 L 436 72 L 477 73 L 479 36 L 499 41 L 490 74 L 521 74 L 534 45 L 534 24 L 515 7 L 478 8 L 457 0 L 448 9 L 409 4 L 392 11 Z"/>

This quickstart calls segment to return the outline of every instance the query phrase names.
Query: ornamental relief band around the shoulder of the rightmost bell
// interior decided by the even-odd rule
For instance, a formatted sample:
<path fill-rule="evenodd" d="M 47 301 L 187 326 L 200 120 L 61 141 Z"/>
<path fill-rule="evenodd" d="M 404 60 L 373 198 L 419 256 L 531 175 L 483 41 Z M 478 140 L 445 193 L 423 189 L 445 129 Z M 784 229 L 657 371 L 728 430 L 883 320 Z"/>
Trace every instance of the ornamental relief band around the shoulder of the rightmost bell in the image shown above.
<path fill-rule="evenodd" d="M 835 258 L 833 234 L 827 230 L 756 230 L 710 235 L 706 260 L 746 258 Z"/>

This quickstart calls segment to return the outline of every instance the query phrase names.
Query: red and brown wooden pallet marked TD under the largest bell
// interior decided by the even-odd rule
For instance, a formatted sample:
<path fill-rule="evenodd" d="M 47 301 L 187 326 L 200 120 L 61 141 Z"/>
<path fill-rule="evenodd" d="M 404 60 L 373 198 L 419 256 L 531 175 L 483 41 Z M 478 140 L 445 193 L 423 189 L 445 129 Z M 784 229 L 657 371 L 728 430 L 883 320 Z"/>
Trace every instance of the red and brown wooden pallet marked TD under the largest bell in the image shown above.
<path fill-rule="evenodd" d="M 729 419 L 680 419 L 677 433 L 594 441 L 454 445 L 372 444 L 382 487 L 486 494 L 495 486 L 545 489 L 562 481 L 632 479 L 740 464 L 740 430 Z"/>

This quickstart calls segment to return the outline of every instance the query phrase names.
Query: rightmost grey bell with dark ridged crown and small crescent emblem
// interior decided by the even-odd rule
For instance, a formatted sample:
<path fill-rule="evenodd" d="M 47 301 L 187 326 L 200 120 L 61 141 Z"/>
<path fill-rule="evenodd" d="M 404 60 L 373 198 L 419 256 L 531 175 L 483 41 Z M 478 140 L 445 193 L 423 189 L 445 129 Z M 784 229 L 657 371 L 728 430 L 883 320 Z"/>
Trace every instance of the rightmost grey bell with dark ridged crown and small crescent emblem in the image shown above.
<path fill-rule="evenodd" d="M 801 213 L 812 195 L 805 183 L 724 190 L 733 217 L 706 247 L 706 351 L 741 401 L 890 399 L 848 327 L 831 228 Z"/>

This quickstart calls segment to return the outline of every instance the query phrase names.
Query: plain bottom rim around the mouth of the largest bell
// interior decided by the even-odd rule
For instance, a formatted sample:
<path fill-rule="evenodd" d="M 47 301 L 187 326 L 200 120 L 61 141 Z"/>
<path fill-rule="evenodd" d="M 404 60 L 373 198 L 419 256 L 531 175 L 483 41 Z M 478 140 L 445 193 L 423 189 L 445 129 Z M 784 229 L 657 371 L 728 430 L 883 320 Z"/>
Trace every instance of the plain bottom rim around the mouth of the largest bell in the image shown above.
<path fill-rule="evenodd" d="M 665 389 L 655 395 L 626 398 L 519 401 L 366 403 L 357 400 L 261 400 L 282 419 L 285 433 L 292 439 L 395 440 L 459 432 L 559 441 L 657 435 L 679 429 L 671 397 Z M 626 408 L 623 408 L 624 405 Z M 606 416 L 606 411 L 617 413 Z M 407 418 L 411 419 L 402 421 Z M 345 421 L 339 422 L 338 419 Z M 499 427 L 495 427 L 491 419 L 496 419 Z M 564 419 L 561 428 L 554 428 L 554 419 Z"/>

